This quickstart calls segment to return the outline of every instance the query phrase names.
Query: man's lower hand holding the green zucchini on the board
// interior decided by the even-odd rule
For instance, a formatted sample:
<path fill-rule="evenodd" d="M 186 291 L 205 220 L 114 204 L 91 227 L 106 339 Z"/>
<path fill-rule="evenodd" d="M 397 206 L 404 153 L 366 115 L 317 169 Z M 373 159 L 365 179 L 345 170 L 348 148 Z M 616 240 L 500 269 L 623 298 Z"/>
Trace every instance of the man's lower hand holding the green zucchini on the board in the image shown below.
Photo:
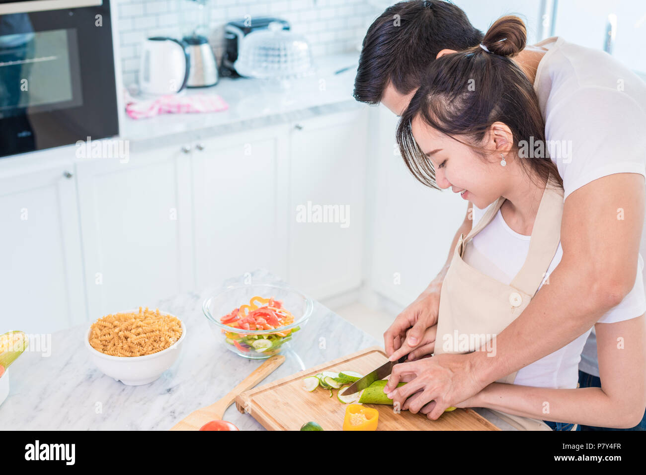
<path fill-rule="evenodd" d="M 457 407 L 485 387 L 475 377 L 471 362 L 473 354 L 439 354 L 395 365 L 384 392 L 393 399 L 393 405 L 413 414 L 434 401 L 425 409 L 427 417 L 436 420 L 444 409 Z M 410 382 L 397 387 L 397 383 L 406 380 Z"/>

